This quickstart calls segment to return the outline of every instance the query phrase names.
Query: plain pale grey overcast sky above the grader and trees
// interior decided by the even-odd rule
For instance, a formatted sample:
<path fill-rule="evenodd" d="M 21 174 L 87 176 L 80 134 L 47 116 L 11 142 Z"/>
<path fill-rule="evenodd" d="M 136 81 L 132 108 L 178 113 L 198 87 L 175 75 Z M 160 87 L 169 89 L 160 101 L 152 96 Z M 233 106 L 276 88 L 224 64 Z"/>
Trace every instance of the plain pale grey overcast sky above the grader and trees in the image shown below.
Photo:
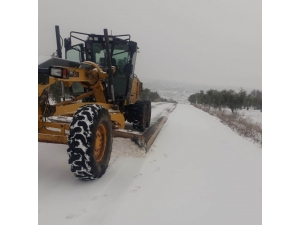
<path fill-rule="evenodd" d="M 262 88 L 259 0 L 39 0 L 38 54 L 56 50 L 55 25 L 70 31 L 130 34 L 135 73 L 215 86 Z"/>

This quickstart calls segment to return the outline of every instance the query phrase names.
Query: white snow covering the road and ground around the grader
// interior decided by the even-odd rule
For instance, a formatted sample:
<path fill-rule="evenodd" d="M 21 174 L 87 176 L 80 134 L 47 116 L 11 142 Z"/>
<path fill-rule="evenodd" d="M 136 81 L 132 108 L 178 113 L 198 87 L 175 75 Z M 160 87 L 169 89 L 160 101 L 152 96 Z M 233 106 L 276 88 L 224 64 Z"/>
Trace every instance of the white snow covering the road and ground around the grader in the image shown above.
<path fill-rule="evenodd" d="M 169 107 L 152 106 L 153 118 Z M 114 138 L 95 181 L 74 177 L 66 145 L 38 146 L 39 224 L 261 224 L 261 148 L 191 105 L 177 105 L 147 154 Z"/>

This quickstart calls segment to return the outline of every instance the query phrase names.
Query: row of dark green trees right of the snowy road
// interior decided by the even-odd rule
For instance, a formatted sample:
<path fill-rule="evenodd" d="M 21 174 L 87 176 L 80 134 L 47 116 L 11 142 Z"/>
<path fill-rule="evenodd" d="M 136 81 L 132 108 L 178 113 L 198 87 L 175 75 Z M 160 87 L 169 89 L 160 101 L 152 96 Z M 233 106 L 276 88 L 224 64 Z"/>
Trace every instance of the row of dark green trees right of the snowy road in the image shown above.
<path fill-rule="evenodd" d="M 259 109 L 262 111 L 262 91 L 252 90 L 247 93 L 244 89 L 239 92 L 234 90 L 213 90 L 210 89 L 206 92 L 201 90 L 198 93 L 189 96 L 188 101 L 191 104 L 202 104 L 207 107 L 222 108 L 228 107 L 232 112 L 237 109 L 249 108 Z"/>

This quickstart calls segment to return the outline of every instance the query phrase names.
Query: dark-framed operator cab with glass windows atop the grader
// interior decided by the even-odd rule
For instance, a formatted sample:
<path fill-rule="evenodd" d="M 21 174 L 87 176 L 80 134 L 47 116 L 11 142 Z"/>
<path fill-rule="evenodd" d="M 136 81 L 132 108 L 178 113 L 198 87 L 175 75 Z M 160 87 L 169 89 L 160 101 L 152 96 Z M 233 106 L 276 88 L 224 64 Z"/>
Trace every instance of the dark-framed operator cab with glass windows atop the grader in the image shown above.
<path fill-rule="evenodd" d="M 88 37 L 84 45 L 71 46 L 71 37 L 74 37 L 72 33 L 77 32 L 71 32 L 70 38 L 65 39 L 66 59 L 83 62 L 86 58 L 86 61 L 97 63 L 107 72 L 109 62 L 107 62 L 104 35 L 86 34 Z M 127 36 L 127 39 L 120 38 L 124 36 Z M 116 101 L 129 99 L 138 49 L 137 43 L 130 41 L 129 35 L 109 36 L 109 49 L 110 64 L 116 67 L 116 72 L 113 74 L 115 99 Z"/>

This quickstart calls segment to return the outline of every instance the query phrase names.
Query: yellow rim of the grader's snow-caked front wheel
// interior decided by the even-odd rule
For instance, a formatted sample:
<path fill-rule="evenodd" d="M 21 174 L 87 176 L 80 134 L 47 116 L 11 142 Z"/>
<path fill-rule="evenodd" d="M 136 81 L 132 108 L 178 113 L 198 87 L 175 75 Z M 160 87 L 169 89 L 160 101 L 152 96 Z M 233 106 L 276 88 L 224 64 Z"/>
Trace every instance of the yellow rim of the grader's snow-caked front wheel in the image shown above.
<path fill-rule="evenodd" d="M 100 162 L 103 159 L 107 141 L 107 132 L 103 124 L 101 124 L 96 131 L 96 141 L 95 141 L 95 159 L 96 162 Z"/>

